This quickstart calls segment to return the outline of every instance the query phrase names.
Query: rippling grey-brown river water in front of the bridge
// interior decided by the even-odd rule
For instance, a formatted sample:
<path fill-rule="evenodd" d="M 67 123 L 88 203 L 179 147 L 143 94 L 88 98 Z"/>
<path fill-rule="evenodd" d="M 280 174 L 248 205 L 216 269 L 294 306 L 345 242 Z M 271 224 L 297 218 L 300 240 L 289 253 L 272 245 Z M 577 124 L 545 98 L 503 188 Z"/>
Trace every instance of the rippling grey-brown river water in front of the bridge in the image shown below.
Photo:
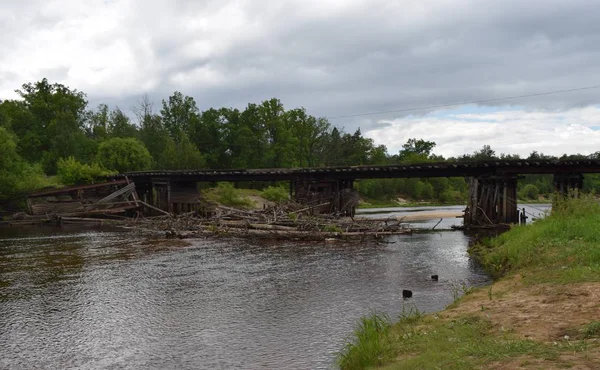
<path fill-rule="evenodd" d="M 441 310 L 458 286 L 489 282 L 469 240 L 457 231 L 298 244 L 0 229 L 0 368 L 331 368 L 359 317 Z"/>

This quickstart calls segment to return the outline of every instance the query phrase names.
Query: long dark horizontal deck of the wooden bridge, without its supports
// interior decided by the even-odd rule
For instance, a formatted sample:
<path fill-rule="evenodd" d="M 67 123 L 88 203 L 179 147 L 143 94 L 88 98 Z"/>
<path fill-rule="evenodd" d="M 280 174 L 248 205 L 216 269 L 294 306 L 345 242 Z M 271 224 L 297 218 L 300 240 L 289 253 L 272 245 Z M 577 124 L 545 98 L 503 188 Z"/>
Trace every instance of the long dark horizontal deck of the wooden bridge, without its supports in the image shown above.
<path fill-rule="evenodd" d="M 494 160 L 485 162 L 436 162 L 411 165 L 343 166 L 312 168 L 177 170 L 128 172 L 135 181 L 164 178 L 173 181 L 288 181 L 296 179 L 369 179 L 407 177 L 507 176 L 519 174 L 600 173 L 600 160 Z"/>

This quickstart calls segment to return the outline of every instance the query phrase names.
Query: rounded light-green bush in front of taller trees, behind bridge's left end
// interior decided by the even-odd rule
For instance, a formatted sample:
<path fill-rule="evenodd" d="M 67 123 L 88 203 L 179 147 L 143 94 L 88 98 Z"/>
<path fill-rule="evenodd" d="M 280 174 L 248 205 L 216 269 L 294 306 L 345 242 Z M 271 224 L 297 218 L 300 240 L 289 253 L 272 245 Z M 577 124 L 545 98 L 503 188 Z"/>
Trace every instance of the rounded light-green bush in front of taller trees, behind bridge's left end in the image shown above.
<path fill-rule="evenodd" d="M 112 138 L 98 146 L 96 162 L 104 168 L 123 173 L 149 169 L 152 157 L 138 139 Z"/>

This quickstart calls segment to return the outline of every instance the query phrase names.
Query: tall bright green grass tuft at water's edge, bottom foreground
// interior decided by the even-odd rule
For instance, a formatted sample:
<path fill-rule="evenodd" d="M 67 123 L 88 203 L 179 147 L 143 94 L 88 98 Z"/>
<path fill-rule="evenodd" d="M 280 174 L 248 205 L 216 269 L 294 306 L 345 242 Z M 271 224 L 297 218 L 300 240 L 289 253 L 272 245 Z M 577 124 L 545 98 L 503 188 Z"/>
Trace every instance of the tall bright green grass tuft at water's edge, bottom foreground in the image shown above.
<path fill-rule="evenodd" d="M 385 314 L 362 317 L 352 339 L 338 354 L 337 365 L 342 370 L 366 369 L 389 361 L 394 355 L 390 329 L 391 321 Z"/>

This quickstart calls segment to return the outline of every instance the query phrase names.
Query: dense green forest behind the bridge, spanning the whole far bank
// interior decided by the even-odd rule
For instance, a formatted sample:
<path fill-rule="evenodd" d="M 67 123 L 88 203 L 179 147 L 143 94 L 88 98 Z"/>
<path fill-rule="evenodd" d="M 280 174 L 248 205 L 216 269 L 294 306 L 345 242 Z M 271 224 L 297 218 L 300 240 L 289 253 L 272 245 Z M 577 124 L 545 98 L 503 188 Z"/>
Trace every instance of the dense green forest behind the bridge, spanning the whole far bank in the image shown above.
<path fill-rule="evenodd" d="M 243 110 L 200 111 L 193 97 L 176 91 L 155 109 L 147 96 L 131 107 L 90 107 L 86 94 L 47 79 L 16 90 L 20 99 L 0 101 L 0 205 L 47 187 L 84 184 L 107 175 L 149 169 L 277 168 L 385 165 L 427 161 L 518 159 L 489 145 L 459 158 L 434 154 L 436 143 L 406 138 L 398 153 L 362 135 L 347 133 L 304 108 L 285 109 L 276 98 Z M 561 158 L 600 158 L 572 154 Z M 531 152 L 528 159 L 550 159 Z M 266 186 L 265 184 L 264 186 Z M 271 184 L 272 185 L 272 184 Z M 254 184 L 253 186 L 261 186 Z M 382 179 L 357 183 L 371 201 L 460 203 L 463 178 Z M 584 190 L 600 189 L 587 175 Z M 552 177 L 525 176 L 519 196 L 536 200 L 553 191 Z"/>

